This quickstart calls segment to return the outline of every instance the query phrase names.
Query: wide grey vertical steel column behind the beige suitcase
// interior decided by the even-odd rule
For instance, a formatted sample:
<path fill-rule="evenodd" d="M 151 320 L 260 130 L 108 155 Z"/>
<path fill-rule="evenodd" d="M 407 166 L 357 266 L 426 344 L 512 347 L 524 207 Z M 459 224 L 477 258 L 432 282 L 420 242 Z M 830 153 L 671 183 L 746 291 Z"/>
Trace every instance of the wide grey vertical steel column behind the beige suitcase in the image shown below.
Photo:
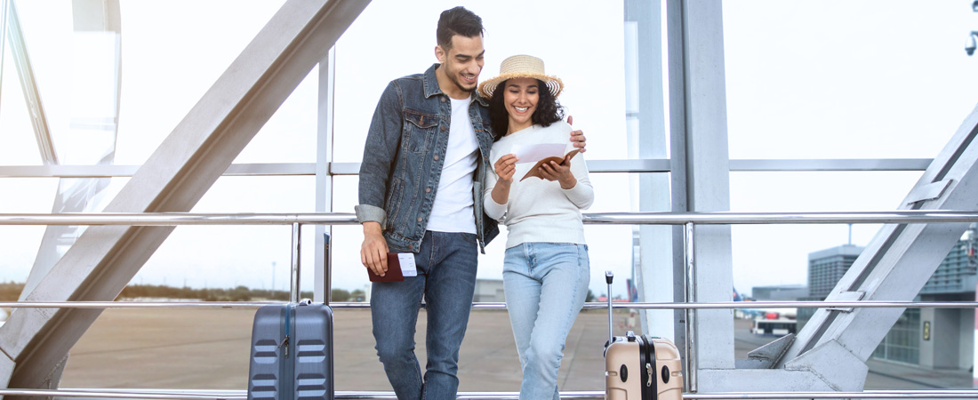
<path fill-rule="evenodd" d="M 675 65 L 670 64 L 670 92 L 682 90 L 684 97 L 682 103 L 675 103 L 670 96 L 670 108 L 683 110 L 684 129 L 673 129 L 672 138 L 678 142 L 677 136 L 682 136 L 683 148 L 678 150 L 685 155 L 683 189 L 689 211 L 730 210 L 722 9 L 722 3 L 713 0 L 672 0 L 667 3 L 667 24 L 671 25 L 668 37 L 670 62 L 676 57 L 682 57 L 683 61 L 682 81 L 673 76 Z M 675 36 L 677 33 L 679 37 Z M 682 55 L 674 54 L 674 41 L 681 41 Z M 671 122 L 676 123 L 678 114 L 672 115 Z M 679 172 L 674 170 L 673 174 Z M 697 226 L 693 239 L 695 269 L 691 299 L 697 302 L 731 301 L 730 226 Z M 712 381 L 702 378 L 703 371 L 733 369 L 733 310 L 698 310 L 693 314 L 687 340 L 692 340 L 693 349 L 689 365 L 697 371 L 689 373 L 697 374 L 698 379 L 691 377 L 689 388 L 709 391 L 715 387 Z"/>

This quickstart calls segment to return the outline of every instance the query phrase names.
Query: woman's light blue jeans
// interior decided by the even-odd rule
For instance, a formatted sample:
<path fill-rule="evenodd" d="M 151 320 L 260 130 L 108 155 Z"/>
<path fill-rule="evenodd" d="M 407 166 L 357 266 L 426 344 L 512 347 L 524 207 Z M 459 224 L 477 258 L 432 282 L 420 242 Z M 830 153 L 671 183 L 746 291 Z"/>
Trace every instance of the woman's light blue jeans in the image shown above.
<path fill-rule="evenodd" d="M 588 296 L 590 269 L 586 244 L 506 249 L 503 287 L 523 368 L 520 400 L 560 398 L 556 373 L 567 333 Z"/>

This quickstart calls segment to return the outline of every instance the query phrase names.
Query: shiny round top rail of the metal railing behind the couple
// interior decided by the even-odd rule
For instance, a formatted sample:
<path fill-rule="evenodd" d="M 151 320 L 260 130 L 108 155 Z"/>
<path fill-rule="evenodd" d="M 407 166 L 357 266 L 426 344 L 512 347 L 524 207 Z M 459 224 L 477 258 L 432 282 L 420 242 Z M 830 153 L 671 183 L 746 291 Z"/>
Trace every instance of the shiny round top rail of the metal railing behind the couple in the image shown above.
<path fill-rule="evenodd" d="M 904 210 L 846 212 L 599 212 L 585 213 L 585 224 L 708 225 L 738 224 L 913 224 L 978 222 L 978 211 Z M 3 213 L 0 225 L 356 225 L 348 212 L 309 213 Z"/>

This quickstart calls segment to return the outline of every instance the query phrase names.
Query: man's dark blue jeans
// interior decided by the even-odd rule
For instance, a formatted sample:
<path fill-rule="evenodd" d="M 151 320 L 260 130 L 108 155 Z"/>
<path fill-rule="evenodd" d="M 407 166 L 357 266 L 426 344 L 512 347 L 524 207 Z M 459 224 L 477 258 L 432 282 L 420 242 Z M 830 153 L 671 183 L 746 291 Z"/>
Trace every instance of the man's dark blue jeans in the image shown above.
<path fill-rule="evenodd" d="M 373 284 L 371 315 L 377 354 L 394 393 L 406 399 L 455 399 L 459 347 L 475 290 L 475 235 L 425 232 L 415 254 L 417 277 Z M 415 355 L 419 304 L 426 302 L 427 366 Z"/>

